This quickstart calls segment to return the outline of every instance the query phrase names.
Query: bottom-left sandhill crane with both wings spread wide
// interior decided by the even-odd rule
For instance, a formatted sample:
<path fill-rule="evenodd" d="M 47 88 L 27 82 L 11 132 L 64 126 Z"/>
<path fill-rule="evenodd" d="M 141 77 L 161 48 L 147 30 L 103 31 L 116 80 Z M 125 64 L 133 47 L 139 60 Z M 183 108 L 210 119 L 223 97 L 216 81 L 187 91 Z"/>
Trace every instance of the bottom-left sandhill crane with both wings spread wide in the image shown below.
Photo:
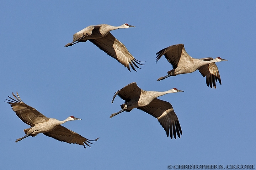
<path fill-rule="evenodd" d="M 38 112 L 35 108 L 25 104 L 18 95 L 18 92 L 17 97 L 13 93 L 12 95 L 16 100 L 8 96 L 11 100 L 6 99 L 6 102 L 11 105 L 12 110 L 24 123 L 30 125 L 30 128 L 24 129 L 26 135 L 22 138 L 18 138 L 15 143 L 28 136 L 36 136 L 39 133 L 43 133 L 46 136 L 52 137 L 62 142 L 75 143 L 84 146 L 84 148 L 86 148 L 84 144 L 91 147 L 88 143 L 93 144 L 90 141 L 98 140 L 98 138 L 95 140 L 89 140 L 77 134 L 76 132 L 73 132 L 60 125 L 66 121 L 81 119 L 75 118 L 74 116 L 70 116 L 63 121 L 47 118 L 42 113 Z"/>

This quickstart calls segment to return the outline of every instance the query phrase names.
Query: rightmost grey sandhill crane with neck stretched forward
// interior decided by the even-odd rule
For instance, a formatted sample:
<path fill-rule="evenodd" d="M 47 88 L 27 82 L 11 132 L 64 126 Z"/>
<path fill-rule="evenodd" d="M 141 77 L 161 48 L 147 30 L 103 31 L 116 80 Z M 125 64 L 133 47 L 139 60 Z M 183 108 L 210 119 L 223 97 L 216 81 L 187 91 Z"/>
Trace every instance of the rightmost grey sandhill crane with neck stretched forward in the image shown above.
<path fill-rule="evenodd" d="M 168 75 L 160 77 L 157 81 L 163 80 L 170 76 L 192 73 L 196 70 L 199 70 L 203 77 L 206 76 L 207 86 L 209 87 L 210 85 L 210 88 L 212 88 L 213 86 L 215 89 L 217 81 L 219 81 L 219 84 L 221 85 L 219 70 L 215 62 L 228 61 L 220 57 L 217 57 L 215 59 L 211 57 L 201 59 L 192 58 L 186 52 L 184 44 L 176 44 L 169 46 L 157 52 L 156 55 L 158 55 L 156 57 L 156 62 L 158 62 L 162 55 L 164 55 L 165 58 L 169 61 L 169 63 L 172 64 L 173 67 L 172 70 L 167 72 Z"/>

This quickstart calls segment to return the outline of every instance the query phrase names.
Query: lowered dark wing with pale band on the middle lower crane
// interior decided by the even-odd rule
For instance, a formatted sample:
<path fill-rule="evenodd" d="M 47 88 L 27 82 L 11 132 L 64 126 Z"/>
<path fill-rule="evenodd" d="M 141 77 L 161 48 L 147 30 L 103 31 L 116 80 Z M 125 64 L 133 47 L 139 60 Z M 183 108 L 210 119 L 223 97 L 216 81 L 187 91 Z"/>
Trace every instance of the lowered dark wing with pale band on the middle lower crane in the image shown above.
<path fill-rule="evenodd" d="M 171 103 L 155 98 L 150 104 L 143 107 L 138 107 L 138 109 L 157 118 L 159 123 L 166 131 L 167 137 L 169 137 L 170 134 L 171 138 L 174 136 L 176 139 L 176 135 L 179 138 L 180 135 L 182 135 L 178 117 L 175 114 Z"/>

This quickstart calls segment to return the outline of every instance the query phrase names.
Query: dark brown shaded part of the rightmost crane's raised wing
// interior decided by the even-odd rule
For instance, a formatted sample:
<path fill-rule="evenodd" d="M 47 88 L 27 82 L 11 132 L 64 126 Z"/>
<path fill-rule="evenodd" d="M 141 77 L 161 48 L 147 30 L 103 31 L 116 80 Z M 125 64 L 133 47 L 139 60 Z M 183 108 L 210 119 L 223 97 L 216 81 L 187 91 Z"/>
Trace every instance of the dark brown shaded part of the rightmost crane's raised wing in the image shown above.
<path fill-rule="evenodd" d="M 156 55 L 158 55 L 156 56 L 156 62 L 164 55 L 166 60 L 171 63 L 172 67 L 175 69 L 180 61 L 182 50 L 185 51 L 184 44 L 176 44 L 162 49 L 156 53 Z"/>

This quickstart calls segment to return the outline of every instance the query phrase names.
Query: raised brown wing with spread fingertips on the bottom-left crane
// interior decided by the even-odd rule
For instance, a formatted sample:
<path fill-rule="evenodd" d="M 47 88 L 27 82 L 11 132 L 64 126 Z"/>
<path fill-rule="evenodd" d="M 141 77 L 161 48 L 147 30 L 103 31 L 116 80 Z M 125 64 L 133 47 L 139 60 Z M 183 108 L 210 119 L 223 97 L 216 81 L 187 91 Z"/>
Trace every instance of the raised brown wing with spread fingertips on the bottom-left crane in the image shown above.
<path fill-rule="evenodd" d="M 27 125 L 33 127 L 37 123 L 43 123 L 47 121 L 49 118 L 44 116 L 42 113 L 38 112 L 35 108 L 28 106 L 25 104 L 17 92 L 17 97 L 12 93 L 14 98 L 9 97 L 11 100 L 6 99 L 7 103 L 9 103 L 12 107 L 12 110 L 16 113 L 16 115 Z"/>

